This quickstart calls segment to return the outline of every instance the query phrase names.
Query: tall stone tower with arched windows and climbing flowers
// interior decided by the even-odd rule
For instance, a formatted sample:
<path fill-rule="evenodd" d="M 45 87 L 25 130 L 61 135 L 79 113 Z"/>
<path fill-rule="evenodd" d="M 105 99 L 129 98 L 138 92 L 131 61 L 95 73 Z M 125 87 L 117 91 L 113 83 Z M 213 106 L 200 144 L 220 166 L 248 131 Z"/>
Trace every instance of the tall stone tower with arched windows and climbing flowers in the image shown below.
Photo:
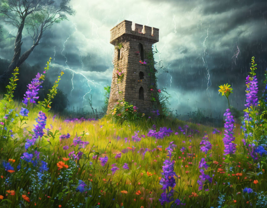
<path fill-rule="evenodd" d="M 115 50 L 107 114 L 122 99 L 142 113 L 151 112 L 157 94 L 152 44 L 159 41 L 159 29 L 123 20 L 110 33 Z"/>

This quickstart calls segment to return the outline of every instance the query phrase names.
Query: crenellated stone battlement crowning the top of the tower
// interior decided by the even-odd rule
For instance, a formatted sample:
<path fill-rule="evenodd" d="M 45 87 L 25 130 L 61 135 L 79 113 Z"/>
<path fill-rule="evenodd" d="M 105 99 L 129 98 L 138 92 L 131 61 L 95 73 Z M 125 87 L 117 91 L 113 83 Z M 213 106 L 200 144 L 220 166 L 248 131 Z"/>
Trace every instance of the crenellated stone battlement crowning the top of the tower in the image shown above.
<path fill-rule="evenodd" d="M 110 43 L 115 45 L 116 39 L 124 34 L 147 39 L 152 43 L 159 41 L 159 29 L 142 24 L 133 24 L 132 21 L 123 20 L 110 30 Z"/>

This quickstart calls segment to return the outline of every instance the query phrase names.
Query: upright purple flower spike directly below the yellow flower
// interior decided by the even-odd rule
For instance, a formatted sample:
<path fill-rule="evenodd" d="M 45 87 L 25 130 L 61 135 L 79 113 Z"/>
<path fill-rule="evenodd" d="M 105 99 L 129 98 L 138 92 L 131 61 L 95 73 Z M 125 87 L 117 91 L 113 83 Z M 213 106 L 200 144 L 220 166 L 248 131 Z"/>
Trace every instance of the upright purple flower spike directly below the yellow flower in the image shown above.
<path fill-rule="evenodd" d="M 224 124 L 224 137 L 222 139 L 225 147 L 224 155 L 235 154 L 236 144 L 233 143 L 235 141 L 235 137 L 233 136 L 235 120 L 233 119 L 229 108 L 226 109 L 226 112 L 223 115 L 227 116 Z"/>

